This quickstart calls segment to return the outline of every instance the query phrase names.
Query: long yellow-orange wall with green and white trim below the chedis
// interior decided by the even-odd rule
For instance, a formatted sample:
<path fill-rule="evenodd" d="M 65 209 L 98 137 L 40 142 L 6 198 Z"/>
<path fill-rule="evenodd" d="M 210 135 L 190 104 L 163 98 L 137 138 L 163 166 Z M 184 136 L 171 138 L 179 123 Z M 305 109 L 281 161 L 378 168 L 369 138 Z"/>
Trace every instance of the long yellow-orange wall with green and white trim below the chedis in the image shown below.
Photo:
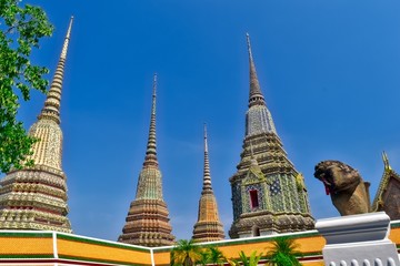
<path fill-rule="evenodd" d="M 53 246 L 53 235 L 57 245 Z M 240 238 L 203 243 L 204 247 L 216 246 L 226 257 L 238 258 L 241 250 L 250 255 L 253 250 L 266 255 L 274 236 Z M 282 236 L 282 235 L 279 235 Z M 301 234 L 284 234 L 299 244 L 298 249 L 304 255 L 301 263 L 306 266 L 322 266 L 322 248 L 326 241 L 316 231 Z M 400 247 L 400 222 L 391 224 L 389 238 Z M 201 245 L 201 244 L 200 244 Z M 53 247 L 56 249 L 53 249 Z M 170 264 L 172 247 L 152 248 L 154 263 L 158 266 Z M 8 232 L 0 231 L 0 264 L 6 259 L 40 260 L 54 259 L 54 250 L 60 259 L 71 259 L 76 263 L 90 262 L 91 265 L 109 263 L 113 265 L 151 265 L 151 248 L 124 245 L 82 236 L 52 232 Z M 27 260 L 28 259 L 28 260 Z M 11 264 L 10 264 L 11 265 Z M 14 263 L 13 265 L 19 265 Z"/>

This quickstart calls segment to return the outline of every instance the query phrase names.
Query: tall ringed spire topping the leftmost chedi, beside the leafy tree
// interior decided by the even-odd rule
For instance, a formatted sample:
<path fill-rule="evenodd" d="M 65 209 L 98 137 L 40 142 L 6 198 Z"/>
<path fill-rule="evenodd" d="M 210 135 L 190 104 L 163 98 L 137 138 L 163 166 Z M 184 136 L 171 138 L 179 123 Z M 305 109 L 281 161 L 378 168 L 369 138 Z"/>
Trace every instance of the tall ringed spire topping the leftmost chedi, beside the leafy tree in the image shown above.
<path fill-rule="evenodd" d="M 73 22 L 73 17 L 71 17 L 70 19 L 70 23 L 67 30 L 64 43 L 62 45 L 60 59 L 54 72 L 53 80 L 50 85 L 50 90 L 44 101 L 44 106 L 38 116 L 39 120 L 50 119 L 56 121 L 56 123 L 60 124 L 62 81 L 63 81 L 63 72 L 67 60 L 68 44 L 71 37 L 72 22 Z"/>

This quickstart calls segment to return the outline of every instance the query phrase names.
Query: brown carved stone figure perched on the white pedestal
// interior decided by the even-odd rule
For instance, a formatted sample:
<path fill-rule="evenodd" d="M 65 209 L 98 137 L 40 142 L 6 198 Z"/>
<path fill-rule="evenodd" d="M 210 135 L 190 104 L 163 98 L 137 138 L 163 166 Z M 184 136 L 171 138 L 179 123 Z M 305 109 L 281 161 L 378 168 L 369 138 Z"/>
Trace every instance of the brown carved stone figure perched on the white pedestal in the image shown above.
<path fill-rule="evenodd" d="M 369 183 L 357 170 L 339 161 L 322 161 L 316 165 L 314 176 L 326 186 L 340 215 L 370 212 Z"/>

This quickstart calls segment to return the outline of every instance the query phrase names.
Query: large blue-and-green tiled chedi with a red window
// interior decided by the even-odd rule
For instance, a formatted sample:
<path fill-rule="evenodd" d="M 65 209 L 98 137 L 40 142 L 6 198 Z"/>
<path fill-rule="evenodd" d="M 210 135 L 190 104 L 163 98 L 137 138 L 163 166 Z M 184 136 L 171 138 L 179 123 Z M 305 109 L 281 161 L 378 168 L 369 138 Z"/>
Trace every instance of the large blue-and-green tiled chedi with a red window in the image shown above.
<path fill-rule="evenodd" d="M 312 229 L 303 176 L 289 161 L 267 109 L 247 34 L 250 63 L 246 137 L 237 173 L 230 177 L 231 238 Z"/>

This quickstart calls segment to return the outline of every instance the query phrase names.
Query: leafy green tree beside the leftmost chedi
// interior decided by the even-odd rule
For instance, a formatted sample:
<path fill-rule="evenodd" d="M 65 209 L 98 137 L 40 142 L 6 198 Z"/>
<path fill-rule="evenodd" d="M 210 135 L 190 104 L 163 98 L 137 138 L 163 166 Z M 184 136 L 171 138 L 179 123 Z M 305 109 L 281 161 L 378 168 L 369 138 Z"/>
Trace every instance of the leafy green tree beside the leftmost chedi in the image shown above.
<path fill-rule="evenodd" d="M 41 8 L 19 3 L 0 1 L 0 172 L 32 164 L 26 158 L 36 140 L 16 115 L 20 98 L 28 101 L 31 90 L 46 92 L 48 85 L 42 78 L 48 69 L 31 64 L 29 57 L 53 27 Z"/>

